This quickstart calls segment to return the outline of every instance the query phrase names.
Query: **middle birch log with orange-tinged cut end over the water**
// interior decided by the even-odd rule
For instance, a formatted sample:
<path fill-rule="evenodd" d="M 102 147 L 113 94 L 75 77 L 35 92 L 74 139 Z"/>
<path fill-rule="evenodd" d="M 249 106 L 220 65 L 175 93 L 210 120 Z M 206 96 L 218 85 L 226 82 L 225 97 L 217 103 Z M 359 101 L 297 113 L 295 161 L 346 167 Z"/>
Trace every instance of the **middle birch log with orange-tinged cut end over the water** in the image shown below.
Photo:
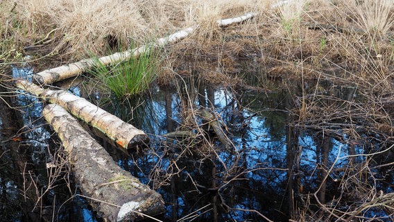
<path fill-rule="evenodd" d="M 43 89 L 22 79 L 15 80 L 14 84 L 19 89 L 62 106 L 74 116 L 83 119 L 89 125 L 105 133 L 123 148 L 135 148 L 149 142 L 149 137 L 142 130 L 93 105 L 86 99 L 65 90 Z"/>

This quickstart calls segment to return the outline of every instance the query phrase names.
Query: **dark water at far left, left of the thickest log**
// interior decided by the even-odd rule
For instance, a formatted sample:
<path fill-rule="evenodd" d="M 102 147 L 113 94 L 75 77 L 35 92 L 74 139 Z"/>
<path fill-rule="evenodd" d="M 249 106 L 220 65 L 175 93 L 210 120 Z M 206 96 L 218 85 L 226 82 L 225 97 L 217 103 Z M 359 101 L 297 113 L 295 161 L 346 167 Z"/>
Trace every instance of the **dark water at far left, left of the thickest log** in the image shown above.
<path fill-rule="evenodd" d="M 30 69 L 13 70 L 26 78 Z M 6 92 L 0 87 L 1 92 Z M 3 100 L 4 99 L 4 100 Z M 69 168 L 41 117 L 42 103 L 28 94 L 0 100 L 0 221 L 84 221 L 87 203 L 70 199 Z M 6 104 L 5 103 L 8 103 Z M 12 105 L 17 109 L 12 109 Z M 22 111 L 22 112 L 19 112 Z M 22 113 L 22 114 L 21 114 Z M 57 173 L 54 173 L 56 169 Z M 53 217 L 55 216 L 55 217 Z M 93 220 L 94 221 L 94 220 Z"/>

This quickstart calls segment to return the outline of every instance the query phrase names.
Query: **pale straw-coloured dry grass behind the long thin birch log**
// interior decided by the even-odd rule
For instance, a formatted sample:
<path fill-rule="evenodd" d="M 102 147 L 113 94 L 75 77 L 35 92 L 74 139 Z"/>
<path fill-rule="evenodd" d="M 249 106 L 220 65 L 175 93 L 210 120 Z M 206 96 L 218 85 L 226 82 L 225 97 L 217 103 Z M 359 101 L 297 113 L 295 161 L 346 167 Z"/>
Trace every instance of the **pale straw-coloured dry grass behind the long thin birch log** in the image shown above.
<path fill-rule="evenodd" d="M 142 42 L 146 35 L 164 36 L 196 24 L 205 35 L 217 28 L 216 19 L 262 6 L 252 0 L 19 0 L 16 4 L 15 14 L 33 42 L 55 29 L 53 49 L 74 58 L 83 57 L 86 50 L 103 53 L 108 40 Z"/>

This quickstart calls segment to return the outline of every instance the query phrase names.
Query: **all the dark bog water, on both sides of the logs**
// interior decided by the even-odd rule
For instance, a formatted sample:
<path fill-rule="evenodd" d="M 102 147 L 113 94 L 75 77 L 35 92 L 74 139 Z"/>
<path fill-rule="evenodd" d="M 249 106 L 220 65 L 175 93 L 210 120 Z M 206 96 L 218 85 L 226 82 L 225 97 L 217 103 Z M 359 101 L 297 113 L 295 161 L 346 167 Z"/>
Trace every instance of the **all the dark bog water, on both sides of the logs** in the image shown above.
<path fill-rule="evenodd" d="M 18 73 L 29 74 L 27 69 L 15 69 L 14 76 Z M 179 87 L 153 87 L 140 99 L 123 103 L 93 89 L 86 92 L 82 84 L 70 89 L 93 103 L 106 101 L 103 108 L 150 135 L 150 147 L 130 151 L 129 156 L 101 142 L 123 169 L 162 194 L 166 212 L 157 219 L 288 221 L 291 216 L 300 218 L 306 208 L 322 212 L 317 200 L 348 209 L 361 201 L 350 195 L 356 181 L 366 189 L 393 191 L 393 171 L 373 168 L 389 162 L 388 155 L 368 156 L 381 149 L 377 142 L 350 140 L 341 128 L 296 127 L 291 110 L 297 103 L 289 90 L 232 90 L 197 82 L 186 79 Z M 354 92 L 341 94 L 349 97 Z M 53 154 L 60 144 L 41 118 L 42 103 L 21 94 L 17 104 L 22 113 L 6 109 L 0 118 L 1 220 L 95 221 L 94 212 L 70 182 L 72 175 L 64 171 L 58 178 L 47 177 L 51 174 L 47 163 L 60 155 Z M 223 144 L 198 115 L 203 108 L 216 115 L 230 144 Z M 196 136 L 163 136 L 177 130 Z M 366 163 L 366 173 L 357 173 Z M 353 179 L 354 184 L 343 182 Z M 53 188 L 46 189 L 49 183 Z M 379 207 L 363 212 L 366 217 L 386 214 Z"/>

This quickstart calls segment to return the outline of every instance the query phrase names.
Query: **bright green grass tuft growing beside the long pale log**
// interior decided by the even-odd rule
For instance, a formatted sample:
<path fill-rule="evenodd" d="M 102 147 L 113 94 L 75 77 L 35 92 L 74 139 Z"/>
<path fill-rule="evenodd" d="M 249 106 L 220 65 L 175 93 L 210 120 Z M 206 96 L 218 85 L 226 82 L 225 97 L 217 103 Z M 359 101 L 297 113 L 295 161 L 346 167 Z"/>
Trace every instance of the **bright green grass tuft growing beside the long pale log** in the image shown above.
<path fill-rule="evenodd" d="M 125 58 L 112 66 L 105 66 L 94 57 L 97 66 L 89 73 L 99 79 L 105 89 L 118 98 L 126 99 L 148 89 L 158 75 L 160 49 L 148 45 L 138 56 Z"/>

